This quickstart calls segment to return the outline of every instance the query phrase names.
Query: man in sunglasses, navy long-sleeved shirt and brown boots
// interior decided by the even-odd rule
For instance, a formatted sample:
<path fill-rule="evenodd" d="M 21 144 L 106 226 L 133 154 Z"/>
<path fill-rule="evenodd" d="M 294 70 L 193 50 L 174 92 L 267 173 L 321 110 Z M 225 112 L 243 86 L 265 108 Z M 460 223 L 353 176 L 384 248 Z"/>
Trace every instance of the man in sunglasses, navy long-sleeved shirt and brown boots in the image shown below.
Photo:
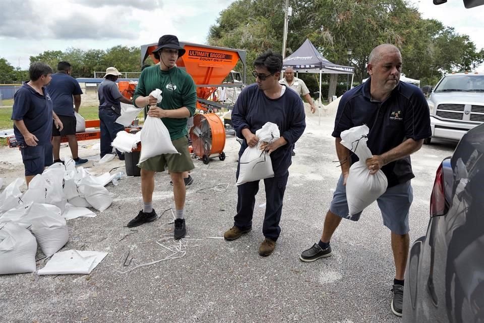
<path fill-rule="evenodd" d="M 304 105 L 299 95 L 279 84 L 282 70 L 282 56 L 272 51 L 266 52 L 254 61 L 253 72 L 256 83 L 246 87 L 238 96 L 232 112 L 232 124 L 237 137 L 244 138 L 239 151 L 240 156 L 247 147 L 258 144 L 255 135 L 267 122 L 279 127 L 280 138 L 272 143 L 262 143 L 261 150 L 266 150 L 272 160 L 274 177 L 266 178 L 266 212 L 262 233 L 264 241 L 259 247 L 261 256 L 268 256 L 275 248 L 281 228 L 279 222 L 282 214 L 284 191 L 291 165 L 292 145 L 299 139 L 306 128 Z M 237 166 L 238 179 L 240 163 Z M 237 186 L 237 214 L 233 218 L 233 227 L 226 231 L 226 240 L 238 239 L 252 230 L 252 216 L 259 181 L 248 182 Z"/>

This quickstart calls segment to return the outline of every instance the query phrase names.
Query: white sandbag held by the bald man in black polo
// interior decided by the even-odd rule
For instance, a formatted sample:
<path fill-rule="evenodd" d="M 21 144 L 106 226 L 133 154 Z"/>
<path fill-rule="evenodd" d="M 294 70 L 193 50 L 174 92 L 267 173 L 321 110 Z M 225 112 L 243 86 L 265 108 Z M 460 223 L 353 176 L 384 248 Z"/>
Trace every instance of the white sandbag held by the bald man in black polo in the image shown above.
<path fill-rule="evenodd" d="M 359 160 L 351 165 L 346 179 L 346 200 L 352 216 L 373 203 L 387 190 L 387 177 L 381 170 L 370 174 L 366 160 L 372 152 L 367 146 L 369 128 L 366 125 L 353 127 L 341 133 L 341 144 L 354 152 Z"/>

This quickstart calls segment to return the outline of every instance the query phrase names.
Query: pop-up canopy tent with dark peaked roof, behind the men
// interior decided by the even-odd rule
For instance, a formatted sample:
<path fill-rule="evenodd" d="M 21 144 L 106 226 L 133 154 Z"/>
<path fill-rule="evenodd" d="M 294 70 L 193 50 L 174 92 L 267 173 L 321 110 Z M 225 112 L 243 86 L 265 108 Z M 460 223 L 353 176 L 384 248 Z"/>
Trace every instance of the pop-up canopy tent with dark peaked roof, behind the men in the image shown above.
<path fill-rule="evenodd" d="M 282 68 L 292 67 L 296 73 L 319 74 L 319 102 L 321 104 L 321 82 L 324 74 L 351 74 L 353 85 L 354 68 L 331 63 L 316 49 L 313 43 L 306 39 L 290 56 L 282 61 Z M 351 88 L 351 87 L 350 87 Z"/>

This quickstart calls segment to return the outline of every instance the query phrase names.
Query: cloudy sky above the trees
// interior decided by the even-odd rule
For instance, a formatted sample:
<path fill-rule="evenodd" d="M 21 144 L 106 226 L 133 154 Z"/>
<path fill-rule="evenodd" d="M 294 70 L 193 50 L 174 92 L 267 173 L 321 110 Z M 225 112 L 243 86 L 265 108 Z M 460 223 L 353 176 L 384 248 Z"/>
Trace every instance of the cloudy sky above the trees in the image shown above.
<path fill-rule="evenodd" d="M 163 34 L 206 43 L 210 26 L 234 1 L 2 0 L 0 57 L 14 67 L 28 69 L 29 57 L 46 50 L 141 46 L 157 42 Z M 469 35 L 478 49 L 484 48 L 484 6 L 465 9 L 462 0 L 439 6 L 432 0 L 409 2 L 423 18 L 453 26 L 458 33 Z M 484 72 L 484 65 L 478 70 Z"/>

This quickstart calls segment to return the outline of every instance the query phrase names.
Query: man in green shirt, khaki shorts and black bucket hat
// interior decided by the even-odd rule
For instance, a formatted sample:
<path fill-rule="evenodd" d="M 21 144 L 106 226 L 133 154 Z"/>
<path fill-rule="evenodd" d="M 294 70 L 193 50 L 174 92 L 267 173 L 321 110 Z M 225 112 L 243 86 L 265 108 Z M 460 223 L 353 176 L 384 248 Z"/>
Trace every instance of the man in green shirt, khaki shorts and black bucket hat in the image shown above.
<path fill-rule="evenodd" d="M 176 67 L 176 60 L 185 54 L 185 49 L 180 47 L 176 36 L 161 36 L 153 53 L 159 58 L 160 64 L 145 68 L 141 72 L 133 102 L 138 107 L 149 105 L 148 116 L 161 118 L 170 133 L 173 146 L 180 154 L 163 154 L 140 164 L 143 209 L 128 223 L 128 227 L 137 227 L 158 218 L 152 205 L 154 175 L 155 172 L 163 172 L 167 168 L 173 182 L 175 199 L 174 237 L 181 239 L 186 234 L 183 214 L 186 190 L 183 173 L 194 169 L 186 136 L 187 119 L 195 113 L 197 92 L 192 77 Z M 157 88 L 162 91 L 163 99 L 160 103 L 156 103 L 156 98 L 150 95 Z"/>

